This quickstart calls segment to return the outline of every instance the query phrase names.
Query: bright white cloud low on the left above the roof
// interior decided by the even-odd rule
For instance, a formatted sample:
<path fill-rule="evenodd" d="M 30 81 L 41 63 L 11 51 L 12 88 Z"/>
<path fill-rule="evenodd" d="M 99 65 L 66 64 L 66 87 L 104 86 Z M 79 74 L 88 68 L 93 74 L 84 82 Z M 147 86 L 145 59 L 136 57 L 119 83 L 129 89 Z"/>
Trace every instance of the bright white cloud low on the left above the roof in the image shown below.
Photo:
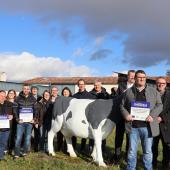
<path fill-rule="evenodd" d="M 0 72 L 6 72 L 8 81 L 23 81 L 41 76 L 91 76 L 93 70 L 77 66 L 70 60 L 55 57 L 37 57 L 28 52 L 0 54 Z"/>

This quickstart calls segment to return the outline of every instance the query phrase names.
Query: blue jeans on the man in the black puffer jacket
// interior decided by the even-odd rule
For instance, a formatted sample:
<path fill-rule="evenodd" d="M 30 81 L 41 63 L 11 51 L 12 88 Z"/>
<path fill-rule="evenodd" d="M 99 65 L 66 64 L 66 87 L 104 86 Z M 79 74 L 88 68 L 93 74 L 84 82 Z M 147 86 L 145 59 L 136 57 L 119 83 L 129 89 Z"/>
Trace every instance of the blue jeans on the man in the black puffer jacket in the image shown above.
<path fill-rule="evenodd" d="M 21 140 L 22 140 L 23 133 L 25 133 L 23 153 L 27 153 L 30 150 L 31 132 L 32 132 L 32 124 L 31 123 L 17 124 L 17 137 L 16 137 L 16 142 L 15 142 L 15 156 L 20 156 Z"/>

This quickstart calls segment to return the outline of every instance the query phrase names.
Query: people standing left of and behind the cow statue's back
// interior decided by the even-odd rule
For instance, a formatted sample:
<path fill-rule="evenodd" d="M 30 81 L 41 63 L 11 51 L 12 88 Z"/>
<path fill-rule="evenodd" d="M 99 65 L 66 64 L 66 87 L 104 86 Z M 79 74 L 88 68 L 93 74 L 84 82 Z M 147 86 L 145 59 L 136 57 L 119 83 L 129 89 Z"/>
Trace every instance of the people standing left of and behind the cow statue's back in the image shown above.
<path fill-rule="evenodd" d="M 77 83 L 78 92 L 72 95 L 68 87 L 62 89 L 61 95 L 77 99 L 109 99 L 110 95 L 96 80 L 91 92 L 87 92 L 85 81 Z M 0 90 L 0 161 L 4 161 L 5 153 L 14 154 L 14 159 L 26 156 L 31 149 L 35 152 L 48 152 L 47 134 L 51 128 L 53 104 L 58 95 L 57 86 L 45 90 L 40 96 L 38 87 L 24 84 L 19 95 L 11 89 Z M 64 137 L 61 132 L 56 135 L 57 150 L 64 148 Z M 72 138 L 76 147 L 76 137 Z M 93 147 L 93 140 L 89 142 Z M 103 142 L 105 147 L 105 141 Z M 86 139 L 82 139 L 81 151 L 85 152 Z"/>

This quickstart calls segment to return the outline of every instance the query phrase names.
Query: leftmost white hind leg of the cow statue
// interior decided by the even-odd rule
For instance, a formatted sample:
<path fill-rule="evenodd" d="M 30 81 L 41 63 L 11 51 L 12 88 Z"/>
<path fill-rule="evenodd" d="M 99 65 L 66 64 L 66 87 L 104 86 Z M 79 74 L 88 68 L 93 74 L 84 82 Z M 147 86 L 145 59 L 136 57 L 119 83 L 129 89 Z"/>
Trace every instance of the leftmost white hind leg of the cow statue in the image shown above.
<path fill-rule="evenodd" d="M 48 132 L 48 152 L 54 156 L 53 140 L 57 132 L 59 132 L 63 125 L 63 115 L 57 115 L 55 120 L 52 120 L 51 129 Z"/>

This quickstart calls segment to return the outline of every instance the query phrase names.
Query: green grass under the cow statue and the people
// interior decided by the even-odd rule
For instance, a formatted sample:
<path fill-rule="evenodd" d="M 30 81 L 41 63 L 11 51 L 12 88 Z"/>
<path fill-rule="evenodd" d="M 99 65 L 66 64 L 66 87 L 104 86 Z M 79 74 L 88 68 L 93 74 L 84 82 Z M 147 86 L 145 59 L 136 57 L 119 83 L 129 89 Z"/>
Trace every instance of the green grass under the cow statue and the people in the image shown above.
<path fill-rule="evenodd" d="M 79 140 L 80 142 L 80 140 Z M 78 143 L 79 143 L 78 142 Z M 125 141 L 124 141 L 125 144 Z M 123 145 L 123 151 L 125 147 Z M 79 145 L 77 147 L 79 152 Z M 161 150 L 161 147 L 159 147 Z M 122 160 L 119 165 L 114 165 L 111 161 L 114 151 L 114 131 L 107 139 L 107 152 L 104 155 L 104 160 L 107 168 L 101 168 L 95 165 L 90 156 L 81 155 L 78 153 L 77 158 L 70 158 L 62 152 L 56 152 L 55 157 L 50 157 L 44 153 L 30 153 L 25 158 L 13 160 L 10 155 L 6 156 L 6 162 L 0 162 L 0 170 L 122 170 L 126 167 L 125 160 Z M 141 148 L 138 151 L 138 165 L 137 170 L 142 170 Z M 159 152 L 159 160 L 161 160 L 161 151 Z M 158 169 L 160 169 L 160 162 L 158 162 Z"/>

